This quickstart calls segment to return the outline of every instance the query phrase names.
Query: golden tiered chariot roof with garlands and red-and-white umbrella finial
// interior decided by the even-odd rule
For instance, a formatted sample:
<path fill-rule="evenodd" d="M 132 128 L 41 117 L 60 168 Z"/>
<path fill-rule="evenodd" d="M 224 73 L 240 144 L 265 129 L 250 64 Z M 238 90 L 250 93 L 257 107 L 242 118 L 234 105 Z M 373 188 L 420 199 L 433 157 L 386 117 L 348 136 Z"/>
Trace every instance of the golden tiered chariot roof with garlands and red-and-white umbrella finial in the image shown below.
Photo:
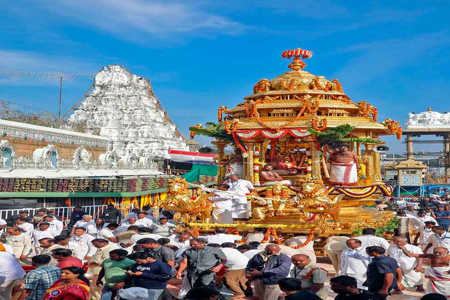
<path fill-rule="evenodd" d="M 275 134 L 309 127 L 321 131 L 350 124 L 360 136 L 397 134 L 401 138 L 399 122 L 379 123 L 378 109 L 366 101 L 353 102 L 338 79 L 330 81 L 304 71 L 306 63 L 302 59 L 312 55 L 302 48 L 284 51 L 283 58 L 293 59 L 288 65 L 291 70 L 256 82 L 253 93 L 235 108 L 220 106 L 218 121 L 228 132 L 265 129 Z"/>

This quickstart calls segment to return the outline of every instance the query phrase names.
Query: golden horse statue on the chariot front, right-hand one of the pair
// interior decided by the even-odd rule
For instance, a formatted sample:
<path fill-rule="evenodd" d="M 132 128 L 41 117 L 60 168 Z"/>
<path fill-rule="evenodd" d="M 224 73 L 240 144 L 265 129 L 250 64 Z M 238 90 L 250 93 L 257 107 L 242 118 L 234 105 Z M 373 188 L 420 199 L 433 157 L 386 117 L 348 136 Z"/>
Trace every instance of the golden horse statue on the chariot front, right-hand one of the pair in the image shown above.
<path fill-rule="evenodd" d="M 339 224 L 340 201 L 345 196 L 339 194 L 330 199 L 327 194 L 331 190 L 327 189 L 321 180 L 306 179 L 302 183 L 302 190 L 293 200 L 302 213 L 302 221 L 310 218 L 306 215 L 314 214 L 314 222 L 322 232 L 326 231 L 328 218 L 333 219 L 333 229 L 342 229 Z"/>

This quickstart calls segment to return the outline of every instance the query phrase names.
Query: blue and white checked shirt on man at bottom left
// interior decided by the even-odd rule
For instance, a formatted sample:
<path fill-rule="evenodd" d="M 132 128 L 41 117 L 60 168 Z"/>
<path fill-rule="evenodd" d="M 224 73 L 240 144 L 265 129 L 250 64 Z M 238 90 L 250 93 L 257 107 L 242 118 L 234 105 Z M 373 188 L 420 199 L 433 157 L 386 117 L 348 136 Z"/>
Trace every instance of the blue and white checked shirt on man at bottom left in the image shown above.
<path fill-rule="evenodd" d="M 26 300 L 40 300 L 45 291 L 60 278 L 61 269 L 53 266 L 39 266 L 25 276 L 24 289 L 32 292 Z"/>

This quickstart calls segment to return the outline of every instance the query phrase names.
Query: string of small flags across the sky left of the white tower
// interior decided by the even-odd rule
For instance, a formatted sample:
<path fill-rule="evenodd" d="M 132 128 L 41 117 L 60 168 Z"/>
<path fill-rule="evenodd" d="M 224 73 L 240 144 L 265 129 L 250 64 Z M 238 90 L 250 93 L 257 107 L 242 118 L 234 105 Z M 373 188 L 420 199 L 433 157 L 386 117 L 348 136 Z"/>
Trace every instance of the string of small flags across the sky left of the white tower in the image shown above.
<path fill-rule="evenodd" d="M 92 79 L 94 73 L 49 73 L 34 72 L 25 70 L 0 69 L 0 78 L 16 78 L 28 80 L 59 80 L 63 78 L 65 81 Z"/>

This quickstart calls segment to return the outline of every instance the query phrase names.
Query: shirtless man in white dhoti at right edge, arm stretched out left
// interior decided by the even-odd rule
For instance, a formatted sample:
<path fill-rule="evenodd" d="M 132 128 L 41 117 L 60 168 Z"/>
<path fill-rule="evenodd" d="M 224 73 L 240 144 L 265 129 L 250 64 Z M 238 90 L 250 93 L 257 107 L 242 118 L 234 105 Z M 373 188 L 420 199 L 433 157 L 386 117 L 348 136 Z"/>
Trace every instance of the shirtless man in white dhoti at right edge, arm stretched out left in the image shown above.
<path fill-rule="evenodd" d="M 410 253 L 404 246 L 398 246 L 409 257 L 430 259 L 430 267 L 425 271 L 428 278 L 425 293 L 438 293 L 450 297 L 450 255 L 445 247 L 435 247 L 433 254 Z"/>

